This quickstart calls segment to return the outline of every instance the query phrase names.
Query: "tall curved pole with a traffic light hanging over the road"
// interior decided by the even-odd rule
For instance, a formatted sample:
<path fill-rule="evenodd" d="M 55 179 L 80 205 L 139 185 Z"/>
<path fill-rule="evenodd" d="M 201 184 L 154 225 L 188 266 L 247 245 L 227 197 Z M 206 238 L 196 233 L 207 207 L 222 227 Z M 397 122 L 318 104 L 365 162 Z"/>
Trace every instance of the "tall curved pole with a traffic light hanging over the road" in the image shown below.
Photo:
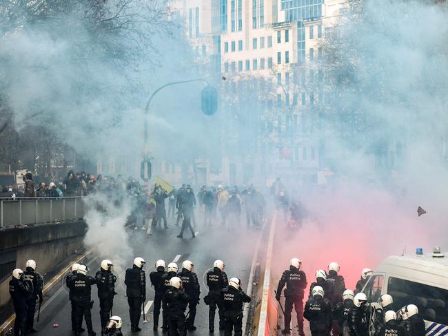
<path fill-rule="evenodd" d="M 149 143 L 150 143 L 150 105 L 151 101 L 158 94 L 161 90 L 163 90 L 165 87 L 172 86 L 172 85 L 178 85 L 183 83 L 192 83 L 192 82 L 203 82 L 207 84 L 207 86 L 203 89 L 203 92 L 201 94 L 201 109 L 204 114 L 211 116 L 216 112 L 217 107 L 217 94 L 216 89 L 203 78 L 196 78 L 196 79 L 190 79 L 187 81 L 176 81 L 167 83 L 165 85 L 162 85 L 157 90 L 155 90 L 150 98 L 148 99 L 145 107 L 145 133 L 144 133 L 144 147 L 143 147 L 143 161 L 141 162 L 140 166 L 140 173 L 141 178 L 147 182 L 151 178 L 151 170 L 152 165 L 150 162 L 150 151 L 149 151 Z"/>

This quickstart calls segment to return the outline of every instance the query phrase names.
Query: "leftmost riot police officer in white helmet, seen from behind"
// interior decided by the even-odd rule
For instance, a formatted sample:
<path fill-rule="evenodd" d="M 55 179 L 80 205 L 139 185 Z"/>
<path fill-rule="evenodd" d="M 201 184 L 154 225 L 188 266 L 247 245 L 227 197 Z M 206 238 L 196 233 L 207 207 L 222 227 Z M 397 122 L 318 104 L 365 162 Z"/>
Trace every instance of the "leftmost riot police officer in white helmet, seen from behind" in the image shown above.
<path fill-rule="evenodd" d="M 26 297 L 28 296 L 28 289 L 23 282 L 23 271 L 21 269 L 12 271 L 10 295 L 14 305 L 14 313 L 16 313 L 14 336 L 26 335 Z"/>

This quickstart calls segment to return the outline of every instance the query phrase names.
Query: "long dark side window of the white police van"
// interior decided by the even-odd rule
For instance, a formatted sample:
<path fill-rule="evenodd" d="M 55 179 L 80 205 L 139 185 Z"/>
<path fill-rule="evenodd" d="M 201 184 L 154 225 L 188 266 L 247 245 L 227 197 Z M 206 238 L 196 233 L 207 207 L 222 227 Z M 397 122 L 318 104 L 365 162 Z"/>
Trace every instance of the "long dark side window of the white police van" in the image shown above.
<path fill-rule="evenodd" d="M 389 277 L 387 293 L 394 298 L 394 310 L 407 304 L 418 306 L 420 317 L 448 324 L 448 290 L 409 280 Z"/>

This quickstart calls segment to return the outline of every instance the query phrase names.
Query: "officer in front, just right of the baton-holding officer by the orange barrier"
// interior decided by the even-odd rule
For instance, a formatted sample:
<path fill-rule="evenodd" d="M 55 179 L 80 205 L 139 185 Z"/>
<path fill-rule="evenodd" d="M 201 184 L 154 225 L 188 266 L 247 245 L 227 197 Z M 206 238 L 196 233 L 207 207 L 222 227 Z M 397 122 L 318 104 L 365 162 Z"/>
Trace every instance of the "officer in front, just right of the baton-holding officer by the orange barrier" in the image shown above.
<path fill-rule="evenodd" d="M 332 329 L 332 305 L 324 298 L 320 286 L 314 286 L 312 297 L 305 304 L 303 316 L 309 321 L 312 336 L 328 336 Z"/>

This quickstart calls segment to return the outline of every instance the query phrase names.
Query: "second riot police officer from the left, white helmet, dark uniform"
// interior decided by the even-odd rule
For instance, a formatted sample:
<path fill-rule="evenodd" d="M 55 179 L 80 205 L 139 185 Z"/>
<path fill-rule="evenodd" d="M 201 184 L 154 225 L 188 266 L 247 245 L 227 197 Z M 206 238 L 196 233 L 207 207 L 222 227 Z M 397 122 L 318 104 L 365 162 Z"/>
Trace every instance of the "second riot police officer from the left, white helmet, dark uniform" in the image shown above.
<path fill-rule="evenodd" d="M 36 262 L 28 260 L 26 262 L 26 271 L 23 272 L 23 282 L 32 289 L 26 297 L 26 331 L 27 333 L 36 333 L 34 329 L 34 313 L 36 313 L 36 300 L 39 297 L 39 304 L 43 301 L 43 278 L 36 272 Z"/>

